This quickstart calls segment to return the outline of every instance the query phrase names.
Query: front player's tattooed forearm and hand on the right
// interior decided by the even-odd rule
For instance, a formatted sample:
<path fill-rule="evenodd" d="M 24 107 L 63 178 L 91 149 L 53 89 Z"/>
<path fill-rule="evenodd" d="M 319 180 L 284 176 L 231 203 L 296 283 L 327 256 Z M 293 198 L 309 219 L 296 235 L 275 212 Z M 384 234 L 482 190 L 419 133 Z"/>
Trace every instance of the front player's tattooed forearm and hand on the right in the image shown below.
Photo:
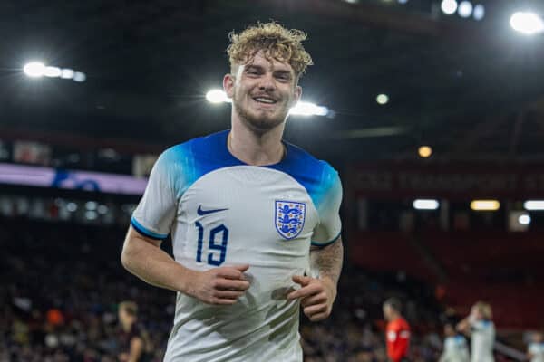
<path fill-rule="evenodd" d="M 312 247 L 310 259 L 312 269 L 319 271 L 317 278 L 295 275 L 293 281 L 302 288 L 287 295 L 288 300 L 301 299 L 304 314 L 312 321 L 327 318 L 333 309 L 336 298 L 336 287 L 344 257 L 342 239 L 323 248 Z"/>

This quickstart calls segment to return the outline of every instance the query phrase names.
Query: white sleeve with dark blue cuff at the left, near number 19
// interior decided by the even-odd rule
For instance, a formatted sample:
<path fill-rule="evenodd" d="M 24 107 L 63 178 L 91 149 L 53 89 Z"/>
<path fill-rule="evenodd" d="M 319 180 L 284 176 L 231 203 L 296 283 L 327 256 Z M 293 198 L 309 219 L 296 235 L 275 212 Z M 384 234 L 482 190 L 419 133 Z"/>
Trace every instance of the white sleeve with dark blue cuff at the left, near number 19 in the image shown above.
<path fill-rule="evenodd" d="M 173 176 L 176 168 L 166 152 L 155 162 L 148 185 L 131 218 L 131 225 L 138 233 L 155 240 L 166 239 L 169 235 L 178 204 Z"/>

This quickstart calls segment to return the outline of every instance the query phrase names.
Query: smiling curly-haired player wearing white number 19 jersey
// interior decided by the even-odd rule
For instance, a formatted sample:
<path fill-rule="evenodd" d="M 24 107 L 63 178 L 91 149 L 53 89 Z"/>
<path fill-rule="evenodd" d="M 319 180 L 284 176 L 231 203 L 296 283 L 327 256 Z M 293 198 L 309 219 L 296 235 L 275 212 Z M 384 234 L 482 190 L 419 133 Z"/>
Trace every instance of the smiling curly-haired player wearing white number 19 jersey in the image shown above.
<path fill-rule="evenodd" d="M 342 268 L 342 186 L 282 141 L 306 34 L 257 24 L 230 35 L 231 129 L 169 148 L 132 215 L 121 262 L 177 291 L 165 361 L 302 361 L 298 310 L 331 313 Z M 160 242 L 169 234 L 174 259 Z"/>

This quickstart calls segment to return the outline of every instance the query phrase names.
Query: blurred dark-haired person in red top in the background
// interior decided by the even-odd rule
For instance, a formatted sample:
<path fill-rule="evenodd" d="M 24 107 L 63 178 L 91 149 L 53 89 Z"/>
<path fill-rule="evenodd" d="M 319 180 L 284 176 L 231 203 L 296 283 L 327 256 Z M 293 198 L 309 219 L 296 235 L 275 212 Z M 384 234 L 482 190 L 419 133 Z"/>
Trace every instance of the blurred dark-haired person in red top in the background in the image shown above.
<path fill-rule="evenodd" d="M 396 298 L 390 298 L 384 302 L 384 318 L 387 320 L 385 329 L 387 357 L 392 362 L 408 361 L 410 326 L 406 319 L 403 319 L 401 309 L 401 301 Z"/>

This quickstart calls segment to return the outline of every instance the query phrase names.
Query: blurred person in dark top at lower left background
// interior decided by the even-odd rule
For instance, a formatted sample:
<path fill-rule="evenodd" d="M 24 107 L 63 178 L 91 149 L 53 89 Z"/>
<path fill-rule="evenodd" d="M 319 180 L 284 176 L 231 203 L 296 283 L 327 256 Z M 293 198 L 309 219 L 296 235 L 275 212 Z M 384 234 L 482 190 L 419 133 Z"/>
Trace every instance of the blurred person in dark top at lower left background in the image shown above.
<path fill-rule="evenodd" d="M 133 301 L 119 304 L 119 360 L 121 362 L 147 362 L 149 356 L 145 331 L 138 324 L 138 305 Z"/>

